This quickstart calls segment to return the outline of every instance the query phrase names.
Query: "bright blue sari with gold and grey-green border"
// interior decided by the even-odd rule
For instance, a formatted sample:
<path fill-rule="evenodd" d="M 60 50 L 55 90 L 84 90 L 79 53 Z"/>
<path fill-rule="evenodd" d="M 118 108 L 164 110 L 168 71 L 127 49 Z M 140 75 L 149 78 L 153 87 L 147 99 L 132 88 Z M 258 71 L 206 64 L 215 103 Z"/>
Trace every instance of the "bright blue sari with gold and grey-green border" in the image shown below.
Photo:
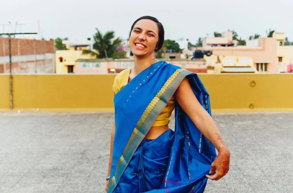
<path fill-rule="evenodd" d="M 202 107 L 211 114 L 209 94 L 198 76 L 157 62 L 139 73 L 114 98 L 116 131 L 108 193 L 202 193 L 213 144 L 175 104 L 175 131 L 154 140 L 146 133 L 187 78 Z"/>

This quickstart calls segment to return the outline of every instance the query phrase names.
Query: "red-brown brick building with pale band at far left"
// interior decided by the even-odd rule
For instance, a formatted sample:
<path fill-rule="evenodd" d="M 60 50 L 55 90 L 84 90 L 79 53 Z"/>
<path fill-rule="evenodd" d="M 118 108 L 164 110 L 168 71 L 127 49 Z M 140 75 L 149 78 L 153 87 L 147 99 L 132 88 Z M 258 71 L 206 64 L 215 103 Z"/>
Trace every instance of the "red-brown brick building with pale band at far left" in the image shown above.
<path fill-rule="evenodd" d="M 12 73 L 54 73 L 54 41 L 11 39 Z M 0 38 L 0 73 L 9 73 L 8 38 Z"/>

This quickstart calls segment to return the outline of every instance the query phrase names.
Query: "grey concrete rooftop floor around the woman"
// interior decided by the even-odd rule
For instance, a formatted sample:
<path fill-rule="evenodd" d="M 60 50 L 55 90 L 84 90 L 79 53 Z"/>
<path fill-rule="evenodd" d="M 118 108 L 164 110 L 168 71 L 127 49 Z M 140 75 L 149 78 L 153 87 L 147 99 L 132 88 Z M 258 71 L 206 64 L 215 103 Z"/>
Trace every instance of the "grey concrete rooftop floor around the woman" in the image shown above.
<path fill-rule="evenodd" d="M 0 113 L 0 193 L 104 193 L 113 118 Z M 205 193 L 293 193 L 293 113 L 213 118 L 231 163 Z"/>

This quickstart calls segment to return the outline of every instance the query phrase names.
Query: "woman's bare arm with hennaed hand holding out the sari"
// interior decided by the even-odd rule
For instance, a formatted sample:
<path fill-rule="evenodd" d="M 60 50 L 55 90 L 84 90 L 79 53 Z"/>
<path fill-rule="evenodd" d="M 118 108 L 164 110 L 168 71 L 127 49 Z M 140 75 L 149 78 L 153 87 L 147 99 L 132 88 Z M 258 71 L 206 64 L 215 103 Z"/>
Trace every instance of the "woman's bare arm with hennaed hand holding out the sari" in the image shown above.
<path fill-rule="evenodd" d="M 212 169 L 210 171 L 210 173 L 214 174 L 206 175 L 211 180 L 219 180 L 229 171 L 230 162 L 230 152 L 221 137 L 219 129 L 210 114 L 198 102 L 187 80 L 182 81 L 174 97 L 199 131 L 219 151 L 217 158 L 212 163 Z"/>

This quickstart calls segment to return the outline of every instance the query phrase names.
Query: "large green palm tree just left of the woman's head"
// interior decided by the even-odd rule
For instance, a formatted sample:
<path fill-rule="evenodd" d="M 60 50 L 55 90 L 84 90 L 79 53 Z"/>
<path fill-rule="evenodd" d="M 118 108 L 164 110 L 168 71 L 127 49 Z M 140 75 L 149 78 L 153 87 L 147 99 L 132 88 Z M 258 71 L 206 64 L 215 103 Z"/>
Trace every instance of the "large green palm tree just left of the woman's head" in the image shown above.
<path fill-rule="evenodd" d="M 96 28 L 97 29 L 97 28 Z M 94 49 L 98 50 L 98 58 L 111 58 L 121 44 L 121 39 L 114 39 L 114 31 L 108 31 L 104 35 L 97 29 L 94 35 Z M 113 40 L 114 39 L 114 40 Z"/>

